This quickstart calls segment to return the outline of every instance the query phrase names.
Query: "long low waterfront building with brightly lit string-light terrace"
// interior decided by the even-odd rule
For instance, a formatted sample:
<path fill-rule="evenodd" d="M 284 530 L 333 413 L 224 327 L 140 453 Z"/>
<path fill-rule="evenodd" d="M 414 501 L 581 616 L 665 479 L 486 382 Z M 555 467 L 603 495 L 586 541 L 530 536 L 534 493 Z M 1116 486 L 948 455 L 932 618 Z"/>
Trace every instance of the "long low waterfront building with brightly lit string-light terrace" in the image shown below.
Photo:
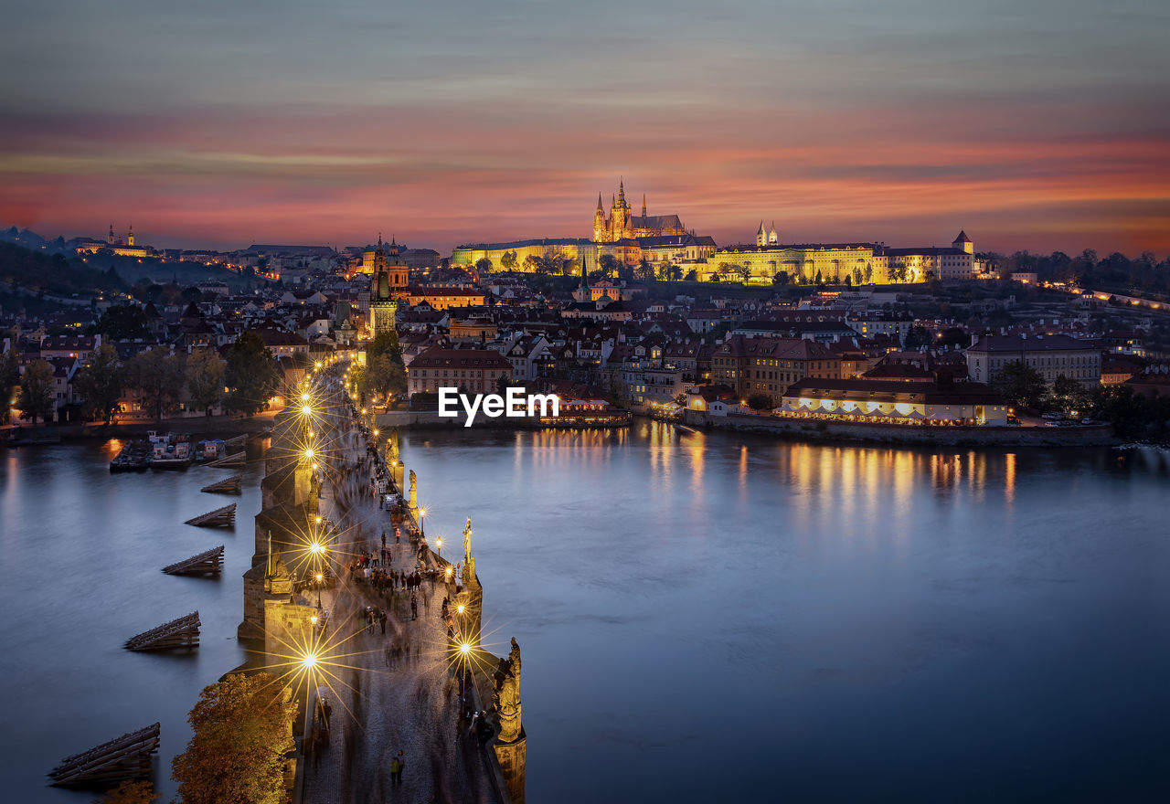
<path fill-rule="evenodd" d="M 894 424 L 1007 424 L 1002 396 L 982 382 L 807 377 L 789 386 L 780 416 Z"/>

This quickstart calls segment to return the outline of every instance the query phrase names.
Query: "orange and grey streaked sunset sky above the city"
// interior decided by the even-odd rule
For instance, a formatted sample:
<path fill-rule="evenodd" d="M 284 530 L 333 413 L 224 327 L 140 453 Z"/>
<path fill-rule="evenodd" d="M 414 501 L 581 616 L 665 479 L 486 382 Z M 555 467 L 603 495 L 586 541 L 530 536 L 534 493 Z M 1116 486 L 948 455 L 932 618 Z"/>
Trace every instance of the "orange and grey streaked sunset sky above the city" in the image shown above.
<path fill-rule="evenodd" d="M 0 224 L 1170 254 L 1170 4 L 2 0 Z M 173 7 L 172 7 L 173 6 Z"/>

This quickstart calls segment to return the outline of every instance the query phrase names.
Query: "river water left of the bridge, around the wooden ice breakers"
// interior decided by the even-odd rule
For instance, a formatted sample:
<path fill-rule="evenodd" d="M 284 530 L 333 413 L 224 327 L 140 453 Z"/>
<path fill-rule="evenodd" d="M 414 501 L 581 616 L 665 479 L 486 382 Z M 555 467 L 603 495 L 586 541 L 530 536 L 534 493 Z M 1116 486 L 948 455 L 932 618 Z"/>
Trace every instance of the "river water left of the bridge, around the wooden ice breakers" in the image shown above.
<path fill-rule="evenodd" d="M 46 774 L 67 755 L 154 721 L 163 727 L 157 776 L 170 800 L 171 757 L 191 737 L 187 712 L 200 689 L 243 660 L 235 628 L 261 465 L 110 474 L 117 446 L 0 453 L 6 802 L 92 800 L 92 792 L 46 786 Z M 239 471 L 241 497 L 200 493 Z M 183 524 L 228 503 L 239 503 L 234 532 Z M 159 571 L 216 545 L 226 547 L 220 580 Z M 202 628 L 194 654 L 122 647 L 197 609 Z"/>

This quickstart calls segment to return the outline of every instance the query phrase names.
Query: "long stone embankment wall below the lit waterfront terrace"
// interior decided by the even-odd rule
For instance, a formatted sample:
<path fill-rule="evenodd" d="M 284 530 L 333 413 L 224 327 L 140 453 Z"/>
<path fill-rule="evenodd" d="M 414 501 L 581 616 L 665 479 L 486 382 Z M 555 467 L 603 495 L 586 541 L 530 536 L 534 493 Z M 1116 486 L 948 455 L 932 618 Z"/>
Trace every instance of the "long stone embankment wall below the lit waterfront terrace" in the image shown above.
<path fill-rule="evenodd" d="M 771 432 L 808 441 L 860 441 L 925 446 L 1108 446 L 1117 443 L 1113 428 L 1108 424 L 1069 428 L 925 427 L 811 421 L 750 414 L 711 416 L 701 410 L 687 410 L 683 423 L 716 430 Z"/>

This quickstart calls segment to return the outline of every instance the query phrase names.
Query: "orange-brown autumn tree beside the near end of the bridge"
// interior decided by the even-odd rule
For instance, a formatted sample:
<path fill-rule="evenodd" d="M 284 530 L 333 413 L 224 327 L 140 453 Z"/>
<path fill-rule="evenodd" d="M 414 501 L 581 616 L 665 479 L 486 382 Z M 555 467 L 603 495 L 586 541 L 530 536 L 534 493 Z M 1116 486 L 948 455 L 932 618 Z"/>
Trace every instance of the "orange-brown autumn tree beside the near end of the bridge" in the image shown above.
<path fill-rule="evenodd" d="M 184 804 L 283 804 L 296 708 L 270 673 L 204 687 L 187 715 L 187 750 L 171 761 Z"/>

